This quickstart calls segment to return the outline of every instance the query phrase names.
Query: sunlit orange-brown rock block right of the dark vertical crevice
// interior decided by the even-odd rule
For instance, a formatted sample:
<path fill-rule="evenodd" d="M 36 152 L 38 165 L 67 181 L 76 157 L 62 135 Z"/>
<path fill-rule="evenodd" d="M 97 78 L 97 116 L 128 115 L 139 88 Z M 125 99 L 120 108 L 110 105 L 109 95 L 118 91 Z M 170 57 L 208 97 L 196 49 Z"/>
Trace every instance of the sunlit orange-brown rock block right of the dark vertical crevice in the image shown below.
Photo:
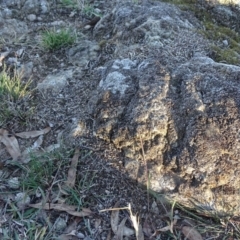
<path fill-rule="evenodd" d="M 239 79 L 240 67 L 201 56 L 172 74 L 177 147 L 169 148 L 166 159 L 176 157 L 182 201 L 196 198 L 219 211 L 240 210 Z"/>

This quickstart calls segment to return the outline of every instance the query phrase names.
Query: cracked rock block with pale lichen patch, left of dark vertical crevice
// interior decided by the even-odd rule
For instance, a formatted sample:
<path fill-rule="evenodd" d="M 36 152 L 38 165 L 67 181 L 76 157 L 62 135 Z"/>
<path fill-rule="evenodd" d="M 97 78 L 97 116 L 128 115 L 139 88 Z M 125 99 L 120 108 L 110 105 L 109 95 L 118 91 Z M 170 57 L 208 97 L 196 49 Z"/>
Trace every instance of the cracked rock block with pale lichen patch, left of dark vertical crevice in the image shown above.
<path fill-rule="evenodd" d="M 140 140 L 146 159 L 162 161 L 167 144 L 169 72 L 154 61 L 137 64 L 116 60 L 99 83 L 92 99 L 95 135 L 112 141 L 130 159 L 138 159 Z M 97 107 L 95 107 L 97 105 Z"/>

